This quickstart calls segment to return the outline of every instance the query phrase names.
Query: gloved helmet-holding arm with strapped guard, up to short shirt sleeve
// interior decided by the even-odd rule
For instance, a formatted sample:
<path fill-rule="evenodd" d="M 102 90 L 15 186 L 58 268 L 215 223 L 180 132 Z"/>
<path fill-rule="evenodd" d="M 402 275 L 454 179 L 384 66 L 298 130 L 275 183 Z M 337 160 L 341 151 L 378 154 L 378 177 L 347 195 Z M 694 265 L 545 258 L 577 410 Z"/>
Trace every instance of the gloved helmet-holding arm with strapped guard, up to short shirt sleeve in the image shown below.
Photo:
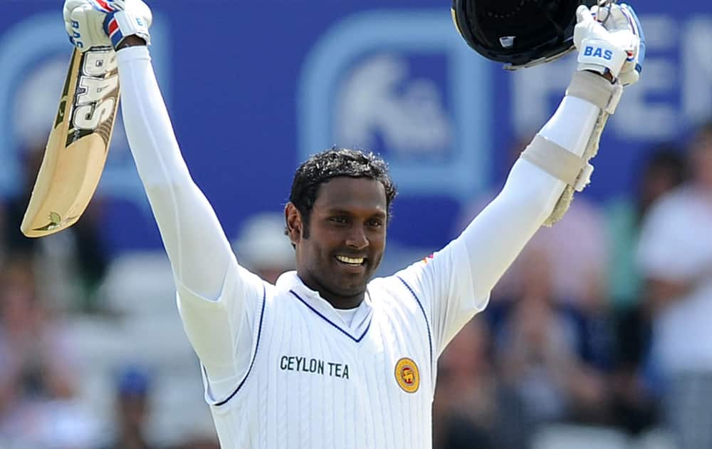
<path fill-rule="evenodd" d="M 644 50 L 637 16 L 626 5 L 610 8 L 597 11 L 607 17 L 608 29 L 587 7 L 577 10 L 578 66 L 566 96 L 515 163 L 502 192 L 461 236 L 477 296 L 491 291 L 536 230 L 560 220 L 574 192 L 588 184 L 589 160 L 622 86 L 638 80 Z"/>

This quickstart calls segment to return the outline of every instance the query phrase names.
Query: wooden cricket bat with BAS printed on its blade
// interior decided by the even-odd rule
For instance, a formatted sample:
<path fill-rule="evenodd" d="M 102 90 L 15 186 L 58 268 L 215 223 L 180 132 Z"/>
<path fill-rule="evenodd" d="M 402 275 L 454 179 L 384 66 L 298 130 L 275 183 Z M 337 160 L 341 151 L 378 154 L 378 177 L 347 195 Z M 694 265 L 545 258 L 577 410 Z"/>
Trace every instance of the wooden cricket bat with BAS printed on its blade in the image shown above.
<path fill-rule="evenodd" d="M 27 237 L 53 234 L 79 220 L 104 171 L 118 104 L 115 51 L 75 49 L 20 225 Z"/>

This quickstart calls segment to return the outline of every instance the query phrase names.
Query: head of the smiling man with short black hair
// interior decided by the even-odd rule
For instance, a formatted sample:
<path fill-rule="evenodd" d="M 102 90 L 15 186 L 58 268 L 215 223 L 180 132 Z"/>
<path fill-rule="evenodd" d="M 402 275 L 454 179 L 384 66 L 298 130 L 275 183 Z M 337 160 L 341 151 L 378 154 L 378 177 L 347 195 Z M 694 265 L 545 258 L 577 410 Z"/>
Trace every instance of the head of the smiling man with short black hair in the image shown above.
<path fill-rule="evenodd" d="M 335 308 L 361 304 L 395 195 L 385 163 L 372 154 L 333 148 L 297 170 L 285 211 L 297 274 Z"/>

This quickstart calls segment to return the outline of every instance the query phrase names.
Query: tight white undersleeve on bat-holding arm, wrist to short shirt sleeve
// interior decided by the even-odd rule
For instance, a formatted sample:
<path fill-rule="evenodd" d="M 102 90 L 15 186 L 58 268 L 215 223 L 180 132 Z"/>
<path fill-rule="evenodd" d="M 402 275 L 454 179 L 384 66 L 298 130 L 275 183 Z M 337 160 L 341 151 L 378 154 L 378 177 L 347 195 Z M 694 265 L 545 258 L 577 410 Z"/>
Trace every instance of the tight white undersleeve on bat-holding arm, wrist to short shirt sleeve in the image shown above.
<path fill-rule="evenodd" d="M 233 257 L 228 239 L 182 158 L 145 43 L 117 58 L 127 138 L 175 277 L 216 299 Z"/>

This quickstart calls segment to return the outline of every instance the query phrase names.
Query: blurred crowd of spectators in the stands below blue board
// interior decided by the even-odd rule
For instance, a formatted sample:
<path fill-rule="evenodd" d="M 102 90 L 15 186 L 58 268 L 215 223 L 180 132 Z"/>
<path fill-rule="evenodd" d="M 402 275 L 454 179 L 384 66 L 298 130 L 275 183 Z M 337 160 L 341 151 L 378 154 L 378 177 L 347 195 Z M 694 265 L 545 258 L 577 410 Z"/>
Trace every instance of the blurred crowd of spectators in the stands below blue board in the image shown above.
<path fill-rule="evenodd" d="M 26 155 L 0 209 L 0 448 L 217 448 L 164 254 L 108 257 L 100 199 L 22 237 Z M 434 448 L 712 448 L 710 229 L 712 123 L 651 148 L 629 197 L 577 195 L 441 356 Z M 234 237 L 268 281 L 293 265 L 279 213 Z"/>

